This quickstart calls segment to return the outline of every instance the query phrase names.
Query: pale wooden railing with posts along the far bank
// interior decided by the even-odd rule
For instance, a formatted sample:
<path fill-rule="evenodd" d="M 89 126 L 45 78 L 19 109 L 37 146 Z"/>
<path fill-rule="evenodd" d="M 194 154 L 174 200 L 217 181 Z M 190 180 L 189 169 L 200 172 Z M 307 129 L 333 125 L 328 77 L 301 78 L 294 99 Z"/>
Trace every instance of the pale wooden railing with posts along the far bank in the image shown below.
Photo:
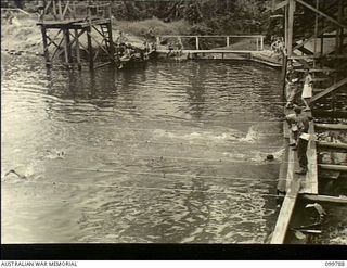
<path fill-rule="evenodd" d="M 195 39 L 195 50 L 201 50 L 201 39 L 206 39 L 206 38 L 210 38 L 210 39 L 224 39 L 224 43 L 226 47 L 230 47 L 231 42 L 234 39 L 252 39 L 255 40 L 255 50 L 256 51 L 261 51 L 264 50 L 264 38 L 265 36 L 261 35 L 231 35 L 231 36 L 211 36 L 211 35 L 206 35 L 206 36 L 176 36 L 176 35 L 165 35 L 165 36 L 157 36 L 156 37 L 156 44 L 157 47 L 160 46 L 162 41 L 168 38 L 176 38 L 178 40 L 182 40 L 184 38 L 189 38 L 189 39 Z"/>

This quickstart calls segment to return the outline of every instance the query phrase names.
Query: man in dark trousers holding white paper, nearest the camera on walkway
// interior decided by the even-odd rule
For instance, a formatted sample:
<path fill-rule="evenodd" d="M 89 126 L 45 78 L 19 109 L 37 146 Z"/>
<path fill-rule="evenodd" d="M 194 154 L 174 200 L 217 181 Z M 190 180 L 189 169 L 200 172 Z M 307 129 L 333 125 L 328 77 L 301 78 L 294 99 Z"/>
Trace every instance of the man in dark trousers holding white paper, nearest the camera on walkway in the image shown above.
<path fill-rule="evenodd" d="M 301 107 L 295 106 L 294 112 L 297 116 L 297 127 L 298 127 L 298 140 L 297 140 L 297 157 L 299 161 L 300 169 L 295 171 L 296 174 L 305 175 L 307 173 L 307 145 L 309 141 L 309 122 L 312 117 L 301 114 Z"/>

